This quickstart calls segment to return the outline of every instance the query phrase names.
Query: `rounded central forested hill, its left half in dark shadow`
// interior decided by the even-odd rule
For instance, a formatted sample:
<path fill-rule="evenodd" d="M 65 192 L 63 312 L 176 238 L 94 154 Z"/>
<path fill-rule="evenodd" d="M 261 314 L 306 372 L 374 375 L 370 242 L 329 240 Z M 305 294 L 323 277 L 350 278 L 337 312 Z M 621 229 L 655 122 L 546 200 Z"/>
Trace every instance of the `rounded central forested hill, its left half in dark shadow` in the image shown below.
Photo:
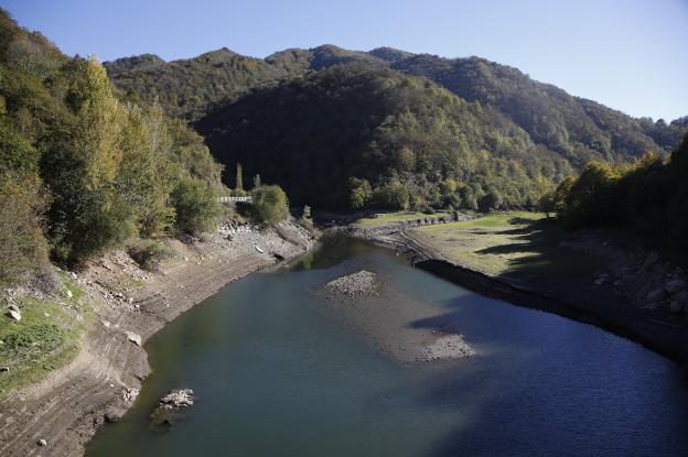
<path fill-rule="evenodd" d="M 497 110 L 365 63 L 254 91 L 197 129 L 222 162 L 320 207 L 523 206 L 573 172 Z"/>

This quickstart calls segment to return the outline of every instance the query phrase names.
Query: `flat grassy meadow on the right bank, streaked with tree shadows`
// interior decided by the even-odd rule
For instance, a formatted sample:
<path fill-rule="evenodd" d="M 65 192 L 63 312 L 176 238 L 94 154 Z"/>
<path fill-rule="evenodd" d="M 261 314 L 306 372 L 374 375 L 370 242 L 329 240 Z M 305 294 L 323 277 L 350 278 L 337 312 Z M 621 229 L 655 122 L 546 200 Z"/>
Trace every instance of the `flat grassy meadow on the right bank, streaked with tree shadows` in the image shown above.
<path fill-rule="evenodd" d="M 449 260 L 491 275 L 560 280 L 587 276 L 605 263 L 594 255 L 559 248 L 565 233 L 539 213 L 495 213 L 418 227 L 410 235 Z"/>

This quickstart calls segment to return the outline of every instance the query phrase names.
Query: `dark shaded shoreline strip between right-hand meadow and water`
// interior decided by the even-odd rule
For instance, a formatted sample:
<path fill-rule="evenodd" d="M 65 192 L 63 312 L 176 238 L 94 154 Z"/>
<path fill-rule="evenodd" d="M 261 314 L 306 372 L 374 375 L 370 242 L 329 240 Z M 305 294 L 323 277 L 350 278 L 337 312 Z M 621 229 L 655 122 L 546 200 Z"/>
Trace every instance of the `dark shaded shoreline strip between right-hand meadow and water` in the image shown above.
<path fill-rule="evenodd" d="M 594 325 L 638 342 L 681 366 L 688 366 L 686 327 L 665 324 L 656 319 L 652 311 L 623 307 L 619 303 L 596 303 L 594 307 L 584 302 L 569 303 L 541 291 L 514 284 L 508 279 L 452 262 L 402 230 L 389 235 L 375 233 L 366 239 L 395 249 L 405 254 L 415 266 L 481 295 Z"/>

